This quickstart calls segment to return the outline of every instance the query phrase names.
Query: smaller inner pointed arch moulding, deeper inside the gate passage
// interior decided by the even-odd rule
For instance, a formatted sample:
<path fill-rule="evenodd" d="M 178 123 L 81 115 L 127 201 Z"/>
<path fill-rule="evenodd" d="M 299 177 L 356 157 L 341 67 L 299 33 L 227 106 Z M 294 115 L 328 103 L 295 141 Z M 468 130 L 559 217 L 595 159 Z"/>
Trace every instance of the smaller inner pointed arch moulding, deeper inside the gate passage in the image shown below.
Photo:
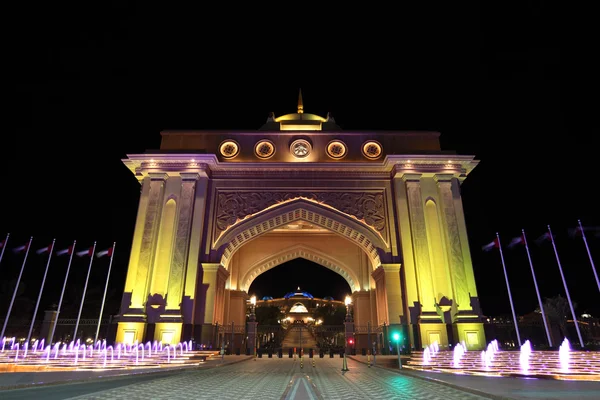
<path fill-rule="evenodd" d="M 358 277 L 350 268 L 348 268 L 347 265 L 319 250 L 306 245 L 289 247 L 254 263 L 240 280 L 240 290 L 243 290 L 247 293 L 254 279 L 256 279 L 260 274 L 296 258 L 305 258 L 322 265 L 323 267 L 329 268 L 333 272 L 341 275 L 346 282 L 348 282 L 352 292 L 360 291 L 360 282 L 358 281 Z"/>

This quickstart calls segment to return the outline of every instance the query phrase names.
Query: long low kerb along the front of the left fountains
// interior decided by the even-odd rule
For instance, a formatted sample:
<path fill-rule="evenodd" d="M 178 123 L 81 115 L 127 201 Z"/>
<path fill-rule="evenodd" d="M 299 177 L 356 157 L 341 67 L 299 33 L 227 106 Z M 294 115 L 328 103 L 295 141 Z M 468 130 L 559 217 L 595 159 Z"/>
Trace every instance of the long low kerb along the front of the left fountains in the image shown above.
<path fill-rule="evenodd" d="M 197 370 L 205 370 L 205 369 L 213 369 L 213 368 L 222 368 L 222 367 L 226 367 L 228 365 L 237 364 L 242 361 L 248 361 L 251 359 L 252 359 L 252 357 L 248 357 L 248 358 L 242 358 L 239 360 L 228 361 L 227 363 L 221 363 L 220 360 L 215 360 L 215 364 L 207 365 L 204 367 L 199 367 L 198 365 L 188 365 L 188 366 L 173 367 L 173 368 L 167 367 L 162 371 L 149 371 L 149 372 L 132 370 L 131 373 L 122 374 L 122 375 L 93 376 L 93 377 L 80 378 L 80 379 L 75 378 L 75 379 L 68 379 L 68 380 L 58 380 L 58 381 L 53 381 L 53 382 L 21 383 L 21 384 L 15 384 L 15 385 L 5 385 L 5 386 L 0 386 L 0 392 L 7 391 L 7 390 L 34 389 L 34 388 L 38 388 L 38 387 L 55 386 L 55 385 L 70 385 L 70 384 L 76 385 L 76 384 L 86 383 L 86 382 L 89 382 L 92 380 L 98 380 L 98 379 L 102 379 L 103 381 L 116 381 L 116 380 L 121 380 L 121 379 L 132 378 L 133 376 L 156 376 L 157 378 L 161 377 L 161 376 L 166 377 L 166 376 L 174 375 L 174 374 L 176 374 L 178 372 L 182 372 L 182 371 L 193 371 L 196 369 Z M 41 372 L 41 373 L 43 373 L 43 372 Z"/>

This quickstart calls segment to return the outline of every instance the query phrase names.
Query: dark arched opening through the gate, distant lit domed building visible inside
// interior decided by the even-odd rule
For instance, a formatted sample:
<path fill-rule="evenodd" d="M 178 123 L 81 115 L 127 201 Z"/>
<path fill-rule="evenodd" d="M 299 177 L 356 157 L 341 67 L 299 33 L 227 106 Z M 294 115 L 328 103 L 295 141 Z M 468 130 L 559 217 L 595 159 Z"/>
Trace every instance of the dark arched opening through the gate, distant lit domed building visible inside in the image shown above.
<path fill-rule="evenodd" d="M 295 258 L 259 275 L 248 293 L 257 299 L 249 313 L 255 313 L 258 323 L 260 350 L 328 353 L 343 349 L 344 299 L 352 290 L 339 273 Z"/>

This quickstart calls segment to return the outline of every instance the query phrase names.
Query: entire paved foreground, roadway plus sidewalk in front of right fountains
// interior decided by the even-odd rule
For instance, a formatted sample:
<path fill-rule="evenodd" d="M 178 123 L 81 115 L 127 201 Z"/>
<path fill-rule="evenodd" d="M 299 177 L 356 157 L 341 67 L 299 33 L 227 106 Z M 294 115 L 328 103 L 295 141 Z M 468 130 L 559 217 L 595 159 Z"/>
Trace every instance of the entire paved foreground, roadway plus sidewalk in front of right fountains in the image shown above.
<path fill-rule="evenodd" d="M 314 361 L 314 366 L 313 366 Z M 14 399 L 599 399 L 598 382 L 420 374 L 368 367 L 360 359 L 245 359 L 229 356 L 200 368 L 96 378 L 0 391 Z"/>

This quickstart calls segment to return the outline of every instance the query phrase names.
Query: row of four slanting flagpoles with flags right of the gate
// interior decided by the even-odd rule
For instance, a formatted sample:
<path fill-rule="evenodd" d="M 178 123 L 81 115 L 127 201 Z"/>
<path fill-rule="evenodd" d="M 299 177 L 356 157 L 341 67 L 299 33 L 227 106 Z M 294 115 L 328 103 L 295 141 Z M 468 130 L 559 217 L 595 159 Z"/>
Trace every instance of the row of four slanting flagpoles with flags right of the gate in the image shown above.
<path fill-rule="evenodd" d="M 587 238 L 585 237 L 585 231 L 588 228 L 584 228 L 581 224 L 581 220 L 578 220 L 578 226 L 573 230 L 573 233 L 576 235 L 581 235 L 583 238 L 583 242 L 585 244 L 585 248 L 587 250 L 588 257 L 590 259 L 590 263 L 592 264 L 592 271 L 594 272 L 594 276 L 596 277 L 596 284 L 598 285 L 598 291 L 600 291 L 600 280 L 598 280 L 598 273 L 596 272 L 596 267 L 594 265 L 594 260 L 592 259 L 592 253 L 590 252 L 590 248 L 588 246 Z M 558 251 L 556 250 L 556 243 L 554 242 L 554 235 L 552 235 L 552 230 L 550 229 L 550 225 L 548 225 L 548 232 L 544 233 L 538 239 L 536 239 L 536 243 L 543 243 L 544 241 L 552 242 L 552 248 L 554 249 L 554 255 L 556 256 L 556 262 L 558 264 L 558 270 L 560 271 L 560 276 L 562 278 L 563 286 L 565 288 L 565 293 L 567 295 L 567 301 L 569 302 L 569 308 L 571 309 L 571 315 L 573 316 L 573 323 L 575 324 L 575 330 L 577 331 L 577 336 L 579 337 L 579 343 L 583 348 L 583 339 L 581 337 L 581 332 L 579 331 L 579 324 L 577 322 L 577 316 L 575 315 L 575 309 L 573 307 L 573 302 L 571 301 L 571 295 L 569 294 L 569 288 L 567 287 L 567 282 L 565 280 L 565 275 L 563 274 L 562 265 L 560 263 L 560 258 L 558 257 Z M 531 262 L 531 254 L 529 253 L 529 246 L 527 244 L 527 237 L 525 236 L 525 230 L 521 230 L 521 236 L 517 236 L 513 238 L 508 247 L 514 247 L 516 245 L 522 244 L 525 246 L 525 250 L 527 252 L 527 259 L 529 260 L 529 266 L 531 267 L 531 274 L 533 276 L 533 284 L 535 285 L 535 292 L 537 294 L 538 303 L 540 306 L 540 311 L 542 313 L 542 319 L 544 321 L 544 328 L 546 329 L 546 335 L 548 337 L 548 345 L 552 347 L 552 338 L 550 336 L 550 330 L 548 328 L 548 322 L 546 321 L 546 314 L 544 313 L 544 305 L 542 304 L 542 298 L 540 297 L 540 291 L 537 285 L 537 280 L 535 279 L 535 272 L 533 270 L 533 263 Z M 504 262 L 504 254 L 502 253 L 502 245 L 500 244 L 500 235 L 496 232 L 496 239 L 492 242 L 483 246 L 484 251 L 489 251 L 494 248 L 497 248 L 500 251 L 500 259 L 502 261 L 502 268 L 504 269 L 504 279 L 506 280 L 506 288 L 508 289 L 508 299 L 510 301 L 510 308 L 512 311 L 513 321 L 515 324 L 515 331 L 517 333 L 517 341 L 519 343 L 519 347 L 521 346 L 521 335 L 519 334 L 519 326 L 517 324 L 517 316 L 515 314 L 515 307 L 512 301 L 512 295 L 510 293 L 510 285 L 508 283 L 508 274 L 506 273 L 506 264 Z"/>

